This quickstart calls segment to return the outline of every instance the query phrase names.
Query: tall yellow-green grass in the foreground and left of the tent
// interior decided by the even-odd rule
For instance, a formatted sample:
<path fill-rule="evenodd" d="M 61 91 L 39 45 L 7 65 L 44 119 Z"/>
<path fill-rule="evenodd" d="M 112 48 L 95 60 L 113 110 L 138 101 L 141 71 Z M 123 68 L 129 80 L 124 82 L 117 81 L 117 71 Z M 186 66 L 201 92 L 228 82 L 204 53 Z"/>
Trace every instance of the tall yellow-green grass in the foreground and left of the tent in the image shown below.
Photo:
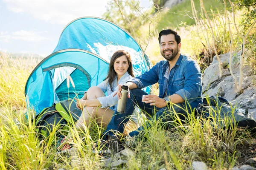
<path fill-rule="evenodd" d="M 57 128 L 47 139 L 37 138 L 35 124 L 30 121 L 34 113 L 29 112 L 29 120 L 24 116 L 23 88 L 31 69 L 37 64 L 36 60 L 32 61 L 12 59 L 6 54 L 0 57 L 1 71 L 9 72 L 8 78 L 0 74 L 1 99 L 8 96 L 0 102 L 0 169 L 104 169 L 101 166 L 104 158 L 92 153 L 93 143 L 99 141 L 104 130 L 95 123 L 85 132 L 71 131 L 76 150 L 69 158 L 56 154 Z M 14 81 L 16 78 L 18 81 Z M 16 93 L 10 90 L 12 88 Z M 123 168 L 183 170 L 191 167 L 192 161 L 204 161 L 212 169 L 228 169 L 242 156 L 238 148 L 246 147 L 245 142 L 250 139 L 246 131 L 239 131 L 237 127 L 223 130 L 218 128 L 218 122 L 195 118 L 193 113 L 186 124 L 175 118 L 172 123 L 175 130 L 171 132 L 166 131 L 159 120 L 153 119 L 151 128 L 145 128 L 142 139 L 132 149 L 134 157 L 128 159 Z"/>

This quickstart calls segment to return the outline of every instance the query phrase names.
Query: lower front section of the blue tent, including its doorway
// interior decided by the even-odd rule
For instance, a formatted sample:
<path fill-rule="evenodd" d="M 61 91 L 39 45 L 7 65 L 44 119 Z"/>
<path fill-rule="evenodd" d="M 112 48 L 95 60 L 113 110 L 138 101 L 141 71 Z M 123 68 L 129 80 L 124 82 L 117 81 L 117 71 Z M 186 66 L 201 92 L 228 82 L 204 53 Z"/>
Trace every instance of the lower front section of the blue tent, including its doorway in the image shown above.
<path fill-rule="evenodd" d="M 75 68 L 70 73 L 75 88 L 72 85 L 70 85 L 70 88 L 67 88 L 67 76 L 64 76 L 62 79 L 53 79 L 53 70 L 47 69 L 61 63 L 76 64 L 86 71 L 82 72 Z M 66 70 L 59 71 L 58 74 L 55 72 L 55 75 L 58 75 L 60 78 L 62 73 L 66 74 Z M 84 73 L 90 75 L 90 84 L 88 75 Z M 61 100 L 64 100 L 69 97 L 75 97 L 74 94 L 76 93 L 79 93 L 81 97 L 83 92 L 90 86 L 95 86 L 102 82 L 106 78 L 107 73 L 108 62 L 95 54 L 77 49 L 58 51 L 46 57 L 32 71 L 25 88 L 26 102 L 30 108 L 35 109 L 36 113 L 40 113 L 44 108 L 51 106 L 53 103 L 58 103 L 60 101 L 59 97 Z M 77 77 L 80 77 L 80 79 L 77 79 Z M 56 84 L 58 84 L 58 87 L 54 87 Z M 58 96 L 58 93 L 61 96 Z M 66 98 L 63 97 L 64 94 L 67 94 Z M 69 96 L 68 94 L 71 95 Z"/>

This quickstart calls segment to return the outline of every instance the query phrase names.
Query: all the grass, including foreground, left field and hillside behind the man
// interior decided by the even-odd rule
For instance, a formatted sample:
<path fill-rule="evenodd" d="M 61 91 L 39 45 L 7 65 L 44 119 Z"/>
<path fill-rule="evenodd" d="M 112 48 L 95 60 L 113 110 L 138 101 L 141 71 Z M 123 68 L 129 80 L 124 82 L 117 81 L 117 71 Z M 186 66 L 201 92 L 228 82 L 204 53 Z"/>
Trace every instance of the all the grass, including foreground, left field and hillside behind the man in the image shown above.
<path fill-rule="evenodd" d="M 222 7 L 222 4 L 217 4 L 217 1 L 205 0 L 204 2 L 208 10 L 211 5 Z M 183 15 L 186 15 L 187 7 L 185 6 L 190 6 L 188 3 L 190 3 L 189 0 L 163 14 L 159 25 L 152 25 L 151 30 L 154 31 L 150 36 L 142 34 L 141 42 L 144 49 L 149 40 L 145 52 L 153 64 L 163 59 L 159 53 L 158 32 L 155 30 L 169 27 L 180 33 L 181 52 L 192 56 L 201 65 L 202 70 L 204 69 L 205 56 L 202 51 L 205 49 L 201 40 L 207 43 L 204 35 L 209 34 L 209 30 L 202 26 L 199 34 L 197 33 L 196 26 L 192 25 L 192 19 Z M 181 14 L 175 14 L 177 12 Z M 238 23 L 242 13 L 243 11 L 236 13 Z M 229 50 L 229 34 L 224 24 L 224 17 L 217 11 L 212 12 L 211 15 L 212 23 L 215 24 L 215 36 L 220 41 L 217 44 L 218 51 L 225 53 Z M 182 24 L 180 24 L 181 21 Z M 140 32 L 147 33 L 148 25 L 143 26 Z M 250 34 L 248 49 L 255 48 L 253 39 L 255 32 L 254 28 Z M 236 40 L 233 48 L 239 51 L 241 42 L 235 31 L 233 34 Z M 255 74 L 255 49 L 251 54 L 253 55 L 248 57 L 247 64 L 252 66 Z M 100 135 L 105 130 L 96 123 L 92 123 L 85 132 L 67 127 L 72 132 L 71 136 L 76 148 L 73 156 L 69 158 L 56 154 L 57 128 L 47 139 L 37 138 L 35 123 L 31 122 L 35 113 L 29 112 L 29 119 L 25 116 L 24 88 L 29 74 L 38 62 L 32 57 L 13 59 L 8 54 L 0 53 L 0 169 L 111 169 L 102 167 L 101 162 L 104 158 L 92 153 L 93 144 L 99 142 Z M 157 94 L 157 85 L 154 86 L 154 94 Z M 195 117 L 194 113 L 188 116 L 185 124 L 181 124 L 181 120 L 177 117 L 175 119 L 176 121 L 172 122 L 175 128 L 171 132 L 165 130 L 166 125 L 153 119 L 151 128 L 145 128 L 141 140 L 137 141 L 137 146 L 132 148 L 134 156 L 128 159 L 122 168 L 134 170 L 164 167 L 183 170 L 190 168 L 192 161 L 204 161 L 213 170 L 229 169 L 239 164 L 240 159 L 245 159 L 244 150 L 249 150 L 250 146 L 255 145 L 245 130 L 239 130 L 236 126 L 231 127 L 229 131 L 224 130 L 219 128 L 220 122 L 215 119 L 209 121 L 200 116 Z M 225 119 L 224 123 L 227 124 L 229 121 Z M 250 155 L 247 156 L 250 157 Z M 252 156 L 255 157 L 255 155 Z"/>

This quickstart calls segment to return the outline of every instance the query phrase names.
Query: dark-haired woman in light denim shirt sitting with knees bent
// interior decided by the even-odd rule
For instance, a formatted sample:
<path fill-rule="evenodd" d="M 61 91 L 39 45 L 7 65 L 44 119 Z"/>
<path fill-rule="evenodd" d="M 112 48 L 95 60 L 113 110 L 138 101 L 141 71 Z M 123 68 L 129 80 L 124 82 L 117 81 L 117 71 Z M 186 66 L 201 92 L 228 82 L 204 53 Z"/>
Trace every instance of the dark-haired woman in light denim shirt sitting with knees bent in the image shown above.
<path fill-rule="evenodd" d="M 94 119 L 103 127 L 107 127 L 118 102 L 117 95 L 113 97 L 113 94 L 119 84 L 123 85 L 133 77 L 130 54 L 124 50 L 116 51 L 111 57 L 106 79 L 99 85 L 90 87 L 81 99 L 76 99 L 77 108 L 83 110 L 76 128 L 84 130 L 90 120 Z M 108 96 L 105 96 L 106 91 Z"/>

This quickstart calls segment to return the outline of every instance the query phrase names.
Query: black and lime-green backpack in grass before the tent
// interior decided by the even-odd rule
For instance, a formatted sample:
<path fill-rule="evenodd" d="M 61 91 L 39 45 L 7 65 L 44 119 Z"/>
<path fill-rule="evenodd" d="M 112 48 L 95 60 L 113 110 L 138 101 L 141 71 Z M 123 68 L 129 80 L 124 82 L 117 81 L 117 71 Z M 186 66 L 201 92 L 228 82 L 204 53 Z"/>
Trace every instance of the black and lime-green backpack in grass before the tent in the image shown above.
<path fill-rule="evenodd" d="M 35 116 L 36 131 L 39 137 L 47 137 L 54 127 L 65 130 L 65 125 L 74 125 L 81 116 L 82 111 L 76 108 L 76 101 L 67 99 L 48 108 Z M 58 135 L 57 135 L 58 136 Z"/>

